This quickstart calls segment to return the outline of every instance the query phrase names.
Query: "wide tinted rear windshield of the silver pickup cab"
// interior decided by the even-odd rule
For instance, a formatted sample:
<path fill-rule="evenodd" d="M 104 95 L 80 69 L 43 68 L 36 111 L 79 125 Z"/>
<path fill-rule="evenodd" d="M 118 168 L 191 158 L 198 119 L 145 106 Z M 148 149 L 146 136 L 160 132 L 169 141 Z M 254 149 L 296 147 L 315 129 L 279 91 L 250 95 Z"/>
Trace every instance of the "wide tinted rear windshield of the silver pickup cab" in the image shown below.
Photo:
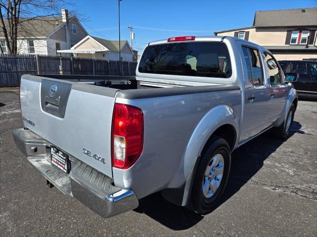
<path fill-rule="evenodd" d="M 229 78 L 232 74 L 227 46 L 222 42 L 181 42 L 148 46 L 140 73 Z"/>

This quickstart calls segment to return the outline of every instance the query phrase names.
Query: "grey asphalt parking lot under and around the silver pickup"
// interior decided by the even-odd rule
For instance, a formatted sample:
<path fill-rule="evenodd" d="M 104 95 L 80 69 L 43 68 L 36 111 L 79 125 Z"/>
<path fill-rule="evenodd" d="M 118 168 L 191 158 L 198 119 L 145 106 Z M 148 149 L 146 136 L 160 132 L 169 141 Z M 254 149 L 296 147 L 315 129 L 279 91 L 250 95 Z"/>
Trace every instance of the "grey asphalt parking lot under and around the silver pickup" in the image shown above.
<path fill-rule="evenodd" d="M 133 211 L 103 219 L 47 187 L 15 147 L 17 126 L 18 91 L 0 91 L 2 237 L 317 236 L 317 102 L 299 102 L 288 140 L 266 132 L 237 149 L 223 199 L 203 216 L 154 194 Z"/>

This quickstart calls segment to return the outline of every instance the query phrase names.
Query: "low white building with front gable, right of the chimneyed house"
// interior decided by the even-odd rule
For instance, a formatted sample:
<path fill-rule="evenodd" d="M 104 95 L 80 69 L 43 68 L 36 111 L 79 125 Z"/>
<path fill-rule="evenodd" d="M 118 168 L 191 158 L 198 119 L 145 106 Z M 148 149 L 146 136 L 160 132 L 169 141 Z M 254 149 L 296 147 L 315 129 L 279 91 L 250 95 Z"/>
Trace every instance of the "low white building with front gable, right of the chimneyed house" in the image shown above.
<path fill-rule="evenodd" d="M 127 40 L 120 41 L 121 61 L 133 62 L 134 52 Z M 98 37 L 86 36 L 70 50 L 58 50 L 60 53 L 72 53 L 75 57 L 94 58 L 102 60 L 119 60 L 119 41 L 105 40 Z"/>

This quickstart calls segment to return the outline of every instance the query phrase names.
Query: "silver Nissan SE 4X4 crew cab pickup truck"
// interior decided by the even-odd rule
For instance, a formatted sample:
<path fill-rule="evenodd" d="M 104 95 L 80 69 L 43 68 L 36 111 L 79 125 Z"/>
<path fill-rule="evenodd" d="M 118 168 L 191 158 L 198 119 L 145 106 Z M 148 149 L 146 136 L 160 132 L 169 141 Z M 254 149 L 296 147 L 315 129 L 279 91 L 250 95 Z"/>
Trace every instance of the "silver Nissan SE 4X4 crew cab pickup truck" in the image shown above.
<path fill-rule="evenodd" d="M 17 147 L 103 217 L 155 192 L 197 213 L 224 192 L 237 147 L 286 138 L 297 93 L 272 54 L 232 37 L 149 43 L 136 77 L 24 75 Z M 265 146 L 265 144 L 262 144 Z"/>

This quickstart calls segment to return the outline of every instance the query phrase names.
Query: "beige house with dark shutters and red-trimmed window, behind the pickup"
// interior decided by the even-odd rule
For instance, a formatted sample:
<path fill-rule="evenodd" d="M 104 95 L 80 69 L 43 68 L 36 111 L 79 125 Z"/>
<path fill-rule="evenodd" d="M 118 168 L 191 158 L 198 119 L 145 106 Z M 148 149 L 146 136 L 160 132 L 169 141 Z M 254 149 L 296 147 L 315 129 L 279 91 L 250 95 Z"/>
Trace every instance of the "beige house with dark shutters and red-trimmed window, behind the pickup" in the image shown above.
<path fill-rule="evenodd" d="M 317 7 L 257 11 L 253 26 L 215 32 L 249 40 L 270 50 L 277 60 L 317 60 Z"/>

